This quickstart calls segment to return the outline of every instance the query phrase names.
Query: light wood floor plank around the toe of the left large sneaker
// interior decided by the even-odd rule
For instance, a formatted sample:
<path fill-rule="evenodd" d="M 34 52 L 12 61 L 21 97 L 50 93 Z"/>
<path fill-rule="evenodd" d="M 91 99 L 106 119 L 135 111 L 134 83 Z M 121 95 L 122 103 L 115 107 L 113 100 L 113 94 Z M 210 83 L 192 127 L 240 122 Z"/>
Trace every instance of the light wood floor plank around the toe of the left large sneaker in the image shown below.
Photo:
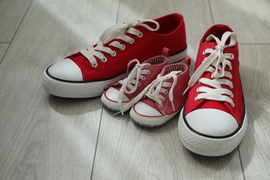
<path fill-rule="evenodd" d="M 106 3 L 31 4 L 0 64 L 0 179 L 90 179 L 100 98 L 49 96 L 41 75 L 116 23 L 118 1 Z"/>

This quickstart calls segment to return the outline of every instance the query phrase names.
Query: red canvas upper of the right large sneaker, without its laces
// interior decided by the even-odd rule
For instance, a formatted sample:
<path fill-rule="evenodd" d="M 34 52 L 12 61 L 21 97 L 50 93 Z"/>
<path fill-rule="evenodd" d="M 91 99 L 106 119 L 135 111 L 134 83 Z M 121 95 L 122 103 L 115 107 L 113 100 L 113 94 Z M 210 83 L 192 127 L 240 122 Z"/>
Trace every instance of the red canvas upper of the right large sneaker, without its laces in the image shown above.
<path fill-rule="evenodd" d="M 208 37 L 208 35 L 213 34 L 219 39 L 221 39 L 222 35 L 226 31 L 233 32 L 233 30 L 229 28 L 228 26 L 217 24 L 215 26 L 212 26 L 205 33 L 199 45 L 197 61 L 195 64 L 195 71 L 201 65 L 204 58 L 209 56 L 209 55 L 203 55 L 203 51 L 206 48 L 215 49 L 215 46 L 217 46 L 217 43 L 215 42 L 215 40 L 213 42 L 206 42 L 206 37 Z M 228 41 L 229 40 L 230 39 L 228 39 Z M 227 42 L 226 44 L 228 44 Z M 185 107 L 185 114 L 188 114 L 191 111 L 194 111 L 195 109 L 219 109 L 219 110 L 227 112 L 228 114 L 231 114 L 237 120 L 237 123 L 240 125 L 242 121 L 243 111 L 244 111 L 244 102 L 243 102 L 242 87 L 241 87 L 241 80 L 240 80 L 240 73 L 239 73 L 238 44 L 236 43 L 235 46 L 224 48 L 224 53 L 233 53 L 234 55 L 234 59 L 231 60 L 233 69 L 231 70 L 228 69 L 228 66 L 226 66 L 225 68 L 225 71 L 229 71 L 233 75 L 233 78 L 231 79 L 231 82 L 233 82 L 233 89 L 231 89 L 230 87 L 226 85 L 223 85 L 222 88 L 229 89 L 230 91 L 233 92 L 234 97 L 232 99 L 233 99 L 233 102 L 235 103 L 235 107 L 232 107 L 231 104 L 229 104 L 228 102 L 222 102 L 222 101 L 216 101 L 216 100 L 200 99 L 196 101 L 195 97 L 199 94 L 197 92 L 197 88 L 201 86 L 206 86 L 205 84 L 201 84 L 197 82 L 193 87 L 190 88 L 188 100 L 186 102 L 186 107 Z M 209 72 L 203 73 L 201 75 L 201 78 L 210 78 L 210 73 Z M 228 79 L 228 78 L 224 78 L 224 79 Z"/>

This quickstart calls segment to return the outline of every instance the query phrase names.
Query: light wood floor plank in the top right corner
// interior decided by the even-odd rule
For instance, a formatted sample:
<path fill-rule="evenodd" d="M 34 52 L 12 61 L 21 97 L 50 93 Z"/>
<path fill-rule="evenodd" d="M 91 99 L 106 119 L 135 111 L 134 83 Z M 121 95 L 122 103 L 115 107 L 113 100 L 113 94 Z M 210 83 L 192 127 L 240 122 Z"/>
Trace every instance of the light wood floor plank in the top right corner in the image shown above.
<path fill-rule="evenodd" d="M 240 43 L 270 43 L 270 2 L 210 0 L 215 24 L 228 24 Z"/>

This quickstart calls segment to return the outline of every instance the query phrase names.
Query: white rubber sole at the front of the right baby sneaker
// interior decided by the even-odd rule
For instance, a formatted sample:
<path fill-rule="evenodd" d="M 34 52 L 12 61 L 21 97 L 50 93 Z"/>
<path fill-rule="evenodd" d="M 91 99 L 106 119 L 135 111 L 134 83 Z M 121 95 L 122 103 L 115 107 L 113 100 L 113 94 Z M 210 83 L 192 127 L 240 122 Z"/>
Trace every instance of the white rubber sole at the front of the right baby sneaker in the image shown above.
<path fill-rule="evenodd" d="M 135 123 L 142 126 L 146 126 L 146 127 L 159 127 L 161 125 L 164 125 L 165 123 L 168 123 L 168 121 L 170 121 L 178 113 L 179 111 L 176 111 L 175 113 L 170 114 L 168 116 L 152 118 L 152 117 L 141 116 L 140 114 L 137 114 L 133 108 L 129 111 L 129 115 Z"/>

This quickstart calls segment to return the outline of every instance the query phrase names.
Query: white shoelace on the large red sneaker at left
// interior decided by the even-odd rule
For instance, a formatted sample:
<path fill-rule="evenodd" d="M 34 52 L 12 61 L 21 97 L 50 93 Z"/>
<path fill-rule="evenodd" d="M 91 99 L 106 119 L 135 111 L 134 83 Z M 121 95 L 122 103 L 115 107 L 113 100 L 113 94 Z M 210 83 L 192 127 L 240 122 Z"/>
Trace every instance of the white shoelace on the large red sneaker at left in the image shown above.
<path fill-rule="evenodd" d="M 151 22 L 156 24 L 156 28 L 151 28 L 145 22 Z M 117 41 L 117 39 L 120 39 L 124 42 L 127 42 L 129 44 L 134 43 L 134 39 L 132 37 L 129 37 L 126 35 L 127 33 L 136 35 L 137 37 L 142 37 L 143 33 L 141 31 L 136 30 L 134 27 L 136 26 L 143 26 L 144 28 L 147 28 L 147 30 L 156 31 L 159 30 L 159 23 L 157 21 L 154 21 L 152 19 L 145 19 L 143 21 L 132 21 L 129 23 L 124 24 L 117 24 L 115 26 L 111 26 L 110 28 L 107 28 L 104 33 L 100 36 L 100 40 L 96 43 L 96 46 L 90 46 L 87 49 L 84 49 L 80 51 L 84 57 L 86 57 L 89 62 L 91 63 L 91 66 L 96 67 L 98 66 L 98 63 L 96 61 L 96 57 L 101 60 L 102 62 L 107 62 L 107 58 L 102 53 L 108 53 L 111 56 L 116 56 L 116 51 L 111 50 L 109 47 L 105 47 L 104 44 L 107 44 L 108 42 L 111 42 L 112 40 L 116 39 L 116 41 L 111 42 L 109 46 L 119 48 L 120 50 L 125 49 L 124 44 L 120 44 L 120 42 Z"/>

